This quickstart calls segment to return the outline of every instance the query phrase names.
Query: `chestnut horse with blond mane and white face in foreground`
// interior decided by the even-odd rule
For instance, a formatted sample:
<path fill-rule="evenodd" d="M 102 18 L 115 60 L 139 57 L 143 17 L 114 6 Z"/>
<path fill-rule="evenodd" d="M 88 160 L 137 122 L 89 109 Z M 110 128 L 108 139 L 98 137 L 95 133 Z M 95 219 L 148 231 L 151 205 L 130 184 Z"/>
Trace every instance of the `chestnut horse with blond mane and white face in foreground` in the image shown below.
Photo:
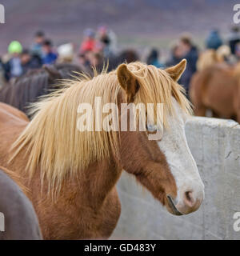
<path fill-rule="evenodd" d="M 0 164 L 23 178 L 43 238 L 109 238 L 121 211 L 116 183 L 122 170 L 171 214 L 198 210 L 204 186 L 184 133 L 190 106 L 176 82 L 185 66 L 184 60 L 159 70 L 134 62 L 67 81 L 38 102 L 31 122 L 0 104 Z M 150 130 L 79 130 L 78 125 L 84 126 L 78 122 L 79 106 L 94 106 L 96 97 L 102 97 L 102 106 L 115 104 L 119 116 L 122 103 L 164 103 L 162 139 L 149 140 Z M 100 108 L 93 111 L 93 120 Z M 154 111 L 152 125 L 158 118 Z"/>

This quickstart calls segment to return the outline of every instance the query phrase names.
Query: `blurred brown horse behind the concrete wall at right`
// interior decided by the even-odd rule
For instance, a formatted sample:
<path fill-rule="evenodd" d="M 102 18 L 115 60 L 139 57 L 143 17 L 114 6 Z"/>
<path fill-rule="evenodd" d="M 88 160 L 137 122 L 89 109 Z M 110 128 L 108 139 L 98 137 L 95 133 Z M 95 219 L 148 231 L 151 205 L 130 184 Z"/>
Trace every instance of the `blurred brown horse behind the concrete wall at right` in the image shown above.
<path fill-rule="evenodd" d="M 205 116 L 212 110 L 215 118 L 240 122 L 240 65 L 218 64 L 194 74 L 190 82 L 190 100 L 194 114 Z"/>

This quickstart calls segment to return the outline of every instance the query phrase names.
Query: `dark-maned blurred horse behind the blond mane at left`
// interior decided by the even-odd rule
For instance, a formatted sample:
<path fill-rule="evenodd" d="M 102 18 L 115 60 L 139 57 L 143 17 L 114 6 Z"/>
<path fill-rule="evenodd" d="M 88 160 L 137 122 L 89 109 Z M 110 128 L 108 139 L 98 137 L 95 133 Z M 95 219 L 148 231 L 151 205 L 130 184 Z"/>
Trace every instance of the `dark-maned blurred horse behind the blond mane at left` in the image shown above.
<path fill-rule="evenodd" d="M 67 79 L 74 72 L 82 71 L 84 70 L 80 66 L 73 64 L 56 64 L 30 70 L 13 84 L 6 85 L 0 90 L 0 102 L 15 106 L 26 113 L 30 103 L 36 102 L 40 96 L 55 89 L 54 85 L 58 79 Z"/>

